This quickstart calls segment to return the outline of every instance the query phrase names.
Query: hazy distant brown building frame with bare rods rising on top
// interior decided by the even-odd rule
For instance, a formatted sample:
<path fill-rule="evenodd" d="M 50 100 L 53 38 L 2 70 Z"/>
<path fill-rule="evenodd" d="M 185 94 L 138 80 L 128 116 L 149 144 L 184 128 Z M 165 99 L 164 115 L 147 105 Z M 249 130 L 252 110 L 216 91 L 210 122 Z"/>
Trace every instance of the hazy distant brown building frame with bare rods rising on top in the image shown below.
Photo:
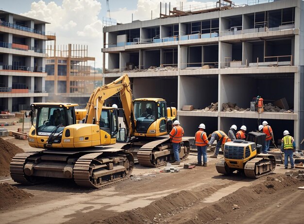
<path fill-rule="evenodd" d="M 48 102 L 73 102 L 85 107 L 102 75 L 96 74 L 95 58 L 89 57 L 87 46 L 54 45 L 47 47 L 46 91 Z"/>

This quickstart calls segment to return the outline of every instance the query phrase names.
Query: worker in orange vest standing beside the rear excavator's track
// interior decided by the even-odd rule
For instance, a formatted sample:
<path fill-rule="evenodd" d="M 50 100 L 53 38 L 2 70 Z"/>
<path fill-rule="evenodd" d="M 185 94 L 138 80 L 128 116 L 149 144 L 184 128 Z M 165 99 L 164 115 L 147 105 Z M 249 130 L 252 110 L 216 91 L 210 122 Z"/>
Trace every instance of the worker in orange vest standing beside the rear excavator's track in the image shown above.
<path fill-rule="evenodd" d="M 169 133 L 173 146 L 174 159 L 175 159 L 175 162 L 173 162 L 172 165 L 180 164 L 181 160 L 179 158 L 179 149 L 181 148 L 183 135 L 184 135 L 184 129 L 180 126 L 180 122 L 178 120 L 175 120 L 173 122 L 173 128 Z"/>

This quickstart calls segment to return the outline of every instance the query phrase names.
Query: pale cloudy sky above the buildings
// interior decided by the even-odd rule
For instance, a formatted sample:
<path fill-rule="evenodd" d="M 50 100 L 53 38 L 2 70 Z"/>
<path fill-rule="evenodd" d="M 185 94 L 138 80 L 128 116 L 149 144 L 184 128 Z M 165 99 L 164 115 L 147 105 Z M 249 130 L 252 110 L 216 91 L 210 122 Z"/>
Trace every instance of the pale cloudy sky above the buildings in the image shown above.
<path fill-rule="evenodd" d="M 55 32 L 56 45 L 88 46 L 88 56 L 95 57 L 95 67 L 102 67 L 102 21 L 111 17 L 119 23 L 148 20 L 159 16 L 160 2 L 171 9 L 183 2 L 186 8 L 202 7 L 217 0 L 0 0 L 0 9 L 39 19 L 50 24 L 46 32 Z M 250 0 L 253 1 L 253 0 Z M 260 0 L 261 1 L 261 0 Z M 248 0 L 235 0 L 235 4 L 247 4 Z M 168 6 L 169 7 L 169 6 Z M 164 12 L 164 9 L 163 9 Z M 94 66 L 94 64 L 89 64 Z"/>

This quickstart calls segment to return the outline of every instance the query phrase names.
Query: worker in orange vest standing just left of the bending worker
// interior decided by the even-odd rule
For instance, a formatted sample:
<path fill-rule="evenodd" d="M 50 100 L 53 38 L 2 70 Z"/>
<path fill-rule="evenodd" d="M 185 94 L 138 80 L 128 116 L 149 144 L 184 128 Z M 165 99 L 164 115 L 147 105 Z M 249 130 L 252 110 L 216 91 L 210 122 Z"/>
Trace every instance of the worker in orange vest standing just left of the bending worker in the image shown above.
<path fill-rule="evenodd" d="M 197 165 L 202 166 L 202 155 L 203 155 L 203 166 L 207 166 L 207 144 L 208 137 L 204 131 L 205 125 L 200 124 L 199 130 L 195 133 L 195 145 L 197 146 Z"/>

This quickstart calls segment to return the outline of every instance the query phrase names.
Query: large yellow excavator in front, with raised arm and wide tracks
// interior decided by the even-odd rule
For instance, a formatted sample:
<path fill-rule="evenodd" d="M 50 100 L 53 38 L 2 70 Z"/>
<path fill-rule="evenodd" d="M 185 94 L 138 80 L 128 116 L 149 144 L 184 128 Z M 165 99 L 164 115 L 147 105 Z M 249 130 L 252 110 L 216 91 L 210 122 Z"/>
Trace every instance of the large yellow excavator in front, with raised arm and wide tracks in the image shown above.
<path fill-rule="evenodd" d="M 10 164 L 13 180 L 23 184 L 36 184 L 50 178 L 68 178 L 80 186 L 98 188 L 130 176 L 134 167 L 132 153 L 109 146 L 116 144 L 119 111 L 115 107 L 104 107 L 103 104 L 107 98 L 117 93 L 120 95 L 125 114 L 124 137 L 135 136 L 135 132 L 138 132 L 138 135 L 143 134 L 134 128 L 138 121 L 133 120 L 134 104 L 127 75 L 96 88 L 85 110 L 75 112 L 78 104 L 33 103 L 30 111 L 32 127 L 28 141 L 30 146 L 44 150 L 17 154 Z M 155 102 L 155 105 L 159 106 L 153 118 L 156 124 L 154 129 L 150 125 L 147 133 L 155 136 L 160 132 L 160 126 L 157 125 L 164 123 L 160 120 L 168 120 L 166 112 L 163 112 L 164 118 L 159 118 L 160 115 L 156 113 L 165 100 L 159 102 Z M 141 119 L 152 120 L 152 117 L 147 114 Z M 139 124 L 140 119 L 137 125 Z M 162 133 L 167 133 L 166 131 Z M 164 143 L 168 141 L 168 138 L 163 140 Z M 180 154 L 183 154 L 183 151 Z M 170 159 L 168 156 L 167 158 Z"/>

